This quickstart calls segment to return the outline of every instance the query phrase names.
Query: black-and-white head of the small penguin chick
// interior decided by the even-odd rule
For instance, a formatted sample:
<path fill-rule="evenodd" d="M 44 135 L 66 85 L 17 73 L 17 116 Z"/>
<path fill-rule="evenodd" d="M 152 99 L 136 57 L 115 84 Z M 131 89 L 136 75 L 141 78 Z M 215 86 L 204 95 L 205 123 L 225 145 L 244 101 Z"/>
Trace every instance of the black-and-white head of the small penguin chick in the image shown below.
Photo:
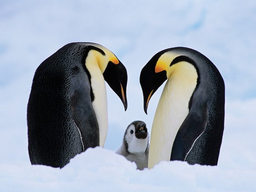
<path fill-rule="evenodd" d="M 143 121 L 134 121 L 129 124 L 123 140 L 129 153 L 144 153 L 149 143 L 149 133 L 146 123 Z"/>

